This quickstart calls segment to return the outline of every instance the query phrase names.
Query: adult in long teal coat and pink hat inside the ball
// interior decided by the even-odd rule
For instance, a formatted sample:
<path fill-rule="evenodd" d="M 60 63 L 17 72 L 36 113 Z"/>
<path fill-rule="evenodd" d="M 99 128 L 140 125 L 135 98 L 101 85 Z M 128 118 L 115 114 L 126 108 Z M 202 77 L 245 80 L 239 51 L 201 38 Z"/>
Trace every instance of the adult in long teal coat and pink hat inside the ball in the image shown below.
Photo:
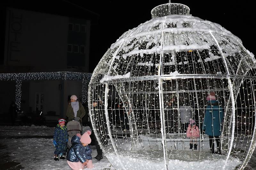
<path fill-rule="evenodd" d="M 219 102 L 216 101 L 215 93 L 211 92 L 207 96 L 207 107 L 204 114 L 203 131 L 209 135 L 210 149 L 212 153 L 221 154 L 220 151 L 220 137 L 221 123 L 223 121 L 223 109 Z M 213 140 L 217 143 L 217 152 L 214 152 Z"/>

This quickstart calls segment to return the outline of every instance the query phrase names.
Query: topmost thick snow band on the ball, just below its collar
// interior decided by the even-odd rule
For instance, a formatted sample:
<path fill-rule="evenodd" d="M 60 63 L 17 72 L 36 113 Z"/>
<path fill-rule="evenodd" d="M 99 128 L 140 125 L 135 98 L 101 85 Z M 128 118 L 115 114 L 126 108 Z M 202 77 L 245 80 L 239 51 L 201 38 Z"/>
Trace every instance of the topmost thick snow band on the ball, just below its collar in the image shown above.
<path fill-rule="evenodd" d="M 156 29 L 157 25 L 157 29 Z M 152 18 L 138 27 L 124 32 L 123 35 L 111 45 L 110 48 L 115 48 L 122 43 L 123 39 L 131 39 L 134 37 L 145 36 L 164 32 L 215 32 L 222 35 L 232 37 L 242 43 L 241 39 L 226 30 L 220 24 L 211 21 L 203 20 L 192 15 L 168 15 L 161 18 Z"/>

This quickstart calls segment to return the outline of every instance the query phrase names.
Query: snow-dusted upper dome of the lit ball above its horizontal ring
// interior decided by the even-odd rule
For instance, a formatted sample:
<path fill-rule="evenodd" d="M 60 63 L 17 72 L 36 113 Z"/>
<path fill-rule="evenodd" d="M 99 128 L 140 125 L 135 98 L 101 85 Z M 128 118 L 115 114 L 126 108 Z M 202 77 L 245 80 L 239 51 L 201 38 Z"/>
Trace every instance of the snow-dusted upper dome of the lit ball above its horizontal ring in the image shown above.
<path fill-rule="evenodd" d="M 160 75 L 245 75 L 256 66 L 241 39 L 217 23 L 190 15 L 186 5 L 164 4 L 152 11 L 151 20 L 124 32 L 110 46 L 91 82 Z"/>

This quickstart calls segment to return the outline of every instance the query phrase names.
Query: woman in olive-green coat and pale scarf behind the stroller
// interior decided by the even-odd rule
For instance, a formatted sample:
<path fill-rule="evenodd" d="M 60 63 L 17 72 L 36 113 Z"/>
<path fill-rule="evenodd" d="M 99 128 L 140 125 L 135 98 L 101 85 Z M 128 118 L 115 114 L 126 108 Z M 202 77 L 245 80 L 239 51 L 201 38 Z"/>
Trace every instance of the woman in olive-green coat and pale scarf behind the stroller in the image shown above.
<path fill-rule="evenodd" d="M 68 103 L 66 116 L 68 119 L 75 119 L 76 121 L 82 121 L 85 115 L 84 106 L 77 100 L 76 95 L 70 97 L 70 103 Z"/>

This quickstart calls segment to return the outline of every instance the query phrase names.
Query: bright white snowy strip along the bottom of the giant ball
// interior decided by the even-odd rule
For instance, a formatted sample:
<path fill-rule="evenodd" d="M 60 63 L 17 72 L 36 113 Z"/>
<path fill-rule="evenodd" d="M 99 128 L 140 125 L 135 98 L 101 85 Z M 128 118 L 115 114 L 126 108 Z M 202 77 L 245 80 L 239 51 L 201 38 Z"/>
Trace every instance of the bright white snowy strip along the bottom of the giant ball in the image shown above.
<path fill-rule="evenodd" d="M 161 155 L 162 156 L 162 155 Z M 116 169 L 123 169 L 120 165 L 120 162 L 124 164 L 125 169 L 136 169 L 136 170 L 144 170 L 144 169 L 165 169 L 164 167 L 164 158 L 155 158 L 155 159 L 148 159 L 147 157 L 143 157 L 138 155 L 137 157 L 132 157 L 128 154 L 120 154 L 116 155 L 115 153 L 108 153 L 106 157 L 112 162 L 112 165 Z M 172 158 L 172 155 L 170 155 Z M 193 157 L 193 155 L 191 155 Z M 222 155 L 216 155 L 216 157 L 223 157 Z M 169 159 L 169 166 L 168 169 L 208 169 L 208 170 L 215 170 L 215 169 L 224 169 L 231 170 L 234 169 L 237 165 L 241 164 L 238 159 L 231 158 L 227 161 L 226 166 L 225 164 L 225 156 L 223 159 L 209 159 L 209 160 L 202 160 L 198 162 L 194 162 L 193 159 L 188 156 L 181 159 Z"/>

